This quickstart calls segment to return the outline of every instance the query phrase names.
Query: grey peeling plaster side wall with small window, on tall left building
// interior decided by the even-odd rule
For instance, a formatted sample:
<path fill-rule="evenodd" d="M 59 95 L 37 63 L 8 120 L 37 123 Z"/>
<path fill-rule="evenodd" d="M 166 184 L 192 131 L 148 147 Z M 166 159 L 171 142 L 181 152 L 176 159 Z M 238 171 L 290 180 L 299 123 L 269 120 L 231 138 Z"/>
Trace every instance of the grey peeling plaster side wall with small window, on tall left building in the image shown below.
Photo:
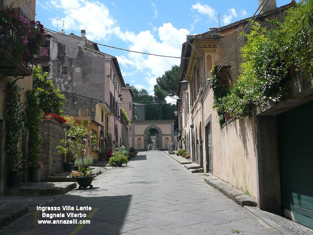
<path fill-rule="evenodd" d="M 81 96 L 104 100 L 105 55 L 77 36 L 52 34 L 51 60 L 40 64 L 49 66 L 49 79 L 55 87 Z M 68 74 L 62 74 L 62 67 Z"/>

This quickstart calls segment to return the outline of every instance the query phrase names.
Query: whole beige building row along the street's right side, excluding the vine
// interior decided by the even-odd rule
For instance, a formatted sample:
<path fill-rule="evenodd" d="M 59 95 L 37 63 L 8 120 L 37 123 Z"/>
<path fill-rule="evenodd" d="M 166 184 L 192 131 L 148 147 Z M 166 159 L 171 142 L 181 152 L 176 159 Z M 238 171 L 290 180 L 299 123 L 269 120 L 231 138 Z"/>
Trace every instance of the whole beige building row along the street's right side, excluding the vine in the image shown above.
<path fill-rule="evenodd" d="M 275 1 L 270 2 L 272 7 L 256 19 L 261 26 L 268 28 L 271 26 L 265 19 L 282 19 L 284 11 L 295 4 L 291 2 L 276 8 Z M 312 100 L 312 89 L 303 83 L 303 77 L 293 78 L 294 82 L 290 83 L 290 89 L 294 91 L 292 96 L 285 97 L 278 104 L 268 104 L 268 110 L 257 104 L 250 119 L 226 115 L 226 122 L 220 126 L 219 115 L 212 107 L 210 72 L 214 65 L 223 63 L 248 21 L 244 19 L 203 34 L 188 35 L 182 45 L 177 92 L 181 99 L 177 102 L 177 111 L 184 137 L 181 147 L 187 149 L 192 161 L 203 167 L 204 172 L 210 172 L 242 191 L 249 191 L 257 199 L 260 209 L 281 215 L 284 214 L 282 201 L 285 201 L 281 185 L 285 181 L 280 179 L 280 165 L 286 163 L 279 154 L 282 151 L 279 148 L 280 131 L 285 131 L 283 124 L 280 125 L 283 123 L 280 116 Z M 228 78 L 230 85 L 240 74 L 243 62 L 240 48 L 243 45 L 244 40 L 222 67 L 232 71 Z M 187 84 L 185 89 L 183 83 Z"/>

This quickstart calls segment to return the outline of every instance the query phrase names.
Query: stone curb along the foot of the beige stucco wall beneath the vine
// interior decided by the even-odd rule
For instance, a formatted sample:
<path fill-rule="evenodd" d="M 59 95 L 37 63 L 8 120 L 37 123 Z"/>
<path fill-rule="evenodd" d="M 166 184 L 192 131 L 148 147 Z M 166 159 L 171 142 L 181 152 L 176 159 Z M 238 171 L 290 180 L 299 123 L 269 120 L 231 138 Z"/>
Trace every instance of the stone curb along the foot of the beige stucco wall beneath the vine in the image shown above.
<path fill-rule="evenodd" d="M 204 181 L 235 201 L 240 206 L 257 206 L 257 202 L 254 197 L 244 194 L 243 191 L 223 180 L 218 179 L 216 176 L 207 175 L 207 177 L 204 178 Z"/>

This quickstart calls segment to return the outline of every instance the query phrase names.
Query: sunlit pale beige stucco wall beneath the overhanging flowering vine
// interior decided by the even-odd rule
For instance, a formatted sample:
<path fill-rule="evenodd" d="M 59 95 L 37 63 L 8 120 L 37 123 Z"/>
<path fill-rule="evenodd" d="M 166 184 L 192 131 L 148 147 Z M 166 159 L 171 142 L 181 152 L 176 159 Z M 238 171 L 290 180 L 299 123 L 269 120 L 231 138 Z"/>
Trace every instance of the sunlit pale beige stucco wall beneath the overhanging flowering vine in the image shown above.
<path fill-rule="evenodd" d="M 209 89 L 204 103 L 213 103 L 213 91 Z M 204 120 L 211 114 L 213 175 L 241 190 L 247 189 L 257 198 L 257 169 L 254 119 L 235 119 L 220 127 L 218 114 L 212 106 L 204 106 Z M 206 165 L 203 144 L 203 165 Z"/>

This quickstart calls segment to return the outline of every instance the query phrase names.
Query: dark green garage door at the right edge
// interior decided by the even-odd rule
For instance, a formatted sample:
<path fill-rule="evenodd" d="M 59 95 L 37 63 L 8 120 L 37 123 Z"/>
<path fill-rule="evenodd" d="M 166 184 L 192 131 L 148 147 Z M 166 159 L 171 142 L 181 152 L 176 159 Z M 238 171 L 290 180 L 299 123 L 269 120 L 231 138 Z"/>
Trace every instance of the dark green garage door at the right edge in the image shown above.
<path fill-rule="evenodd" d="M 313 228 L 313 101 L 278 116 L 282 213 Z"/>

